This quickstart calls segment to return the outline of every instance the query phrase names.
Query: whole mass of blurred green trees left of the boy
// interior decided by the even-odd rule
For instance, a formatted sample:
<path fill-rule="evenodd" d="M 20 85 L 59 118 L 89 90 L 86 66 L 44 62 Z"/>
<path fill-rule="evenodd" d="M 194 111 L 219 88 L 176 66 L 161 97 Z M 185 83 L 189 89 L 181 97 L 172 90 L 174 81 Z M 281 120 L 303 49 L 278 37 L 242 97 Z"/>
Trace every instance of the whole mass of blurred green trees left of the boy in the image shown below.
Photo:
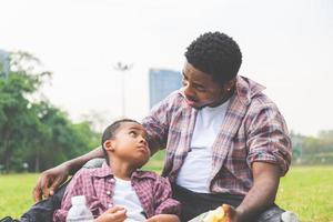
<path fill-rule="evenodd" d="M 73 123 L 40 93 L 52 73 L 26 52 L 10 57 L 0 78 L 0 171 L 41 171 L 99 144 L 89 122 Z"/>

